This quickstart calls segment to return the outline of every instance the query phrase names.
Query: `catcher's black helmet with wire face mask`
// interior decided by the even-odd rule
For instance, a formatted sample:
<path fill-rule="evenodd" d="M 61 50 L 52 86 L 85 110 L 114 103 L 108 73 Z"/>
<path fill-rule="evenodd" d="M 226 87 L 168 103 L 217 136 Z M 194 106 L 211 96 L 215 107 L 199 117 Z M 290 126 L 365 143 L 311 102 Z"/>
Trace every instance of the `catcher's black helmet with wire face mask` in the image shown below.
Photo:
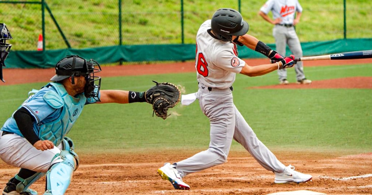
<path fill-rule="evenodd" d="M 101 77 L 95 76 L 94 73 L 100 72 L 101 66 L 98 62 L 90 59 L 81 58 L 77 55 L 70 55 L 61 59 L 55 66 L 55 75 L 51 81 L 62 81 L 65 78 L 72 77 L 72 84 L 75 84 L 75 76 L 84 76 L 86 84 L 84 87 L 84 95 L 87 98 L 93 97 L 96 101 L 100 101 L 98 97 Z M 94 90 L 97 89 L 97 90 Z"/>

